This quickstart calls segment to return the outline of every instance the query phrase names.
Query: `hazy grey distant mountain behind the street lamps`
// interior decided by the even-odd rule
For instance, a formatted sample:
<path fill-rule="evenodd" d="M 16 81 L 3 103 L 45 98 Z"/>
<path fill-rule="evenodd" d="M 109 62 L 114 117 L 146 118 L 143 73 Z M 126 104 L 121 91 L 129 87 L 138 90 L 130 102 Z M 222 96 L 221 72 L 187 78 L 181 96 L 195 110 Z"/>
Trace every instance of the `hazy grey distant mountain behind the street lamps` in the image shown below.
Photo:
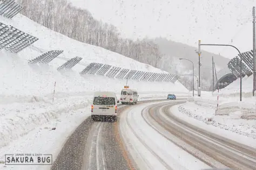
<path fill-rule="evenodd" d="M 160 53 L 164 54 L 165 57 L 161 59 L 159 68 L 168 72 L 175 72 L 178 74 L 192 74 L 192 64 L 186 60 L 179 60 L 184 58 L 191 60 L 194 63 L 194 74 L 198 76 L 198 50 L 196 47 L 192 47 L 180 42 L 174 42 L 167 40 L 166 38 L 156 38 L 154 42 L 159 46 Z M 210 90 L 212 86 L 212 56 L 215 63 L 216 72 L 221 69 L 227 68 L 227 63 L 230 59 L 224 56 L 213 54 L 207 51 L 201 51 L 201 88 L 203 90 Z M 218 79 L 220 77 L 217 77 Z M 214 77 L 215 79 L 215 77 Z M 190 89 L 192 87 L 192 76 L 181 76 L 180 82 Z M 215 80 L 214 80 L 215 81 Z M 197 86 L 195 79 L 195 87 Z"/>

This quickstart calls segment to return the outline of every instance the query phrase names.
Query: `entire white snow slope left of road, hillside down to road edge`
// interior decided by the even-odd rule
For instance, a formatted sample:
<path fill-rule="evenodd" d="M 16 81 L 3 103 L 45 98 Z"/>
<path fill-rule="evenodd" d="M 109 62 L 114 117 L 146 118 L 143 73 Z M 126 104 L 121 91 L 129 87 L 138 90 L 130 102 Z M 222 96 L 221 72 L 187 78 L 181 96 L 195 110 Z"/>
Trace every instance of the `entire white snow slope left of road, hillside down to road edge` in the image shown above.
<path fill-rule="evenodd" d="M 126 80 L 79 75 L 90 62 L 163 73 L 160 69 L 104 48 L 70 39 L 20 14 L 12 20 L 0 17 L 0 22 L 39 38 L 18 54 L 0 51 L 0 165 L 3 165 L 4 154 L 25 153 L 28 150 L 33 153 L 51 152 L 53 159 L 56 159 L 69 134 L 90 115 L 93 91 L 110 90 L 119 97 Z M 28 60 L 56 49 L 64 52 L 49 65 L 28 64 Z M 65 74 L 57 71 L 60 65 L 75 56 L 80 56 L 83 60 L 72 68 L 73 71 Z M 55 82 L 55 96 L 52 101 Z M 187 89 L 178 81 L 171 83 L 128 80 L 128 85 L 138 89 L 139 100 L 166 98 L 167 93 L 187 94 Z M 57 134 L 57 130 L 49 133 L 51 126 L 60 131 Z M 4 165 L 0 169 L 2 167 L 6 169 Z"/>

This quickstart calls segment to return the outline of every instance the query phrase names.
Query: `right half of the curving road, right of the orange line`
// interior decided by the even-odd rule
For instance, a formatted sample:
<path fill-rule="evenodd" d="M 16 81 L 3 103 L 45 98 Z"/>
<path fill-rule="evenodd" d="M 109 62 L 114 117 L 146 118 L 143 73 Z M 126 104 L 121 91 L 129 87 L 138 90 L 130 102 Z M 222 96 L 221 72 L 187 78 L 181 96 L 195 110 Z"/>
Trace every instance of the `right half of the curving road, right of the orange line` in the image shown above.
<path fill-rule="evenodd" d="M 140 104 L 120 116 L 120 131 L 139 169 L 255 169 L 254 148 L 199 129 L 170 113 L 181 101 Z"/>

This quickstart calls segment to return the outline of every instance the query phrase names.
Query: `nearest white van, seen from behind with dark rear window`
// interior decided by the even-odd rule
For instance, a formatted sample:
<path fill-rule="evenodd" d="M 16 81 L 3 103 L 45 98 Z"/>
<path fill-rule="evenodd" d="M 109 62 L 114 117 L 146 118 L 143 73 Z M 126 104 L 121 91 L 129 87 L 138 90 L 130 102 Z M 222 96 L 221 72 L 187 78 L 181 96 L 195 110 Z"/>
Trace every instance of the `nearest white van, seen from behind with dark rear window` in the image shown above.
<path fill-rule="evenodd" d="M 117 121 L 117 96 L 110 91 L 96 91 L 93 95 L 93 103 L 91 105 L 91 118 L 96 119 L 107 118 Z"/>

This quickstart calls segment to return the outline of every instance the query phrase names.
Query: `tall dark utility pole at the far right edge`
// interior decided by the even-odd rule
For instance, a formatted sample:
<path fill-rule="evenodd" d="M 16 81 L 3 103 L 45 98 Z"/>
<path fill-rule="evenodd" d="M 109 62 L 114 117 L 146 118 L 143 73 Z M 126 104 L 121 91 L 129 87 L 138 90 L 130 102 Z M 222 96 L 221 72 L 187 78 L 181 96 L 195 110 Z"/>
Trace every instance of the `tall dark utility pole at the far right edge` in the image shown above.
<path fill-rule="evenodd" d="M 252 8 L 253 17 L 253 91 L 252 95 L 255 96 L 256 90 L 256 51 L 255 51 L 255 6 Z"/>

